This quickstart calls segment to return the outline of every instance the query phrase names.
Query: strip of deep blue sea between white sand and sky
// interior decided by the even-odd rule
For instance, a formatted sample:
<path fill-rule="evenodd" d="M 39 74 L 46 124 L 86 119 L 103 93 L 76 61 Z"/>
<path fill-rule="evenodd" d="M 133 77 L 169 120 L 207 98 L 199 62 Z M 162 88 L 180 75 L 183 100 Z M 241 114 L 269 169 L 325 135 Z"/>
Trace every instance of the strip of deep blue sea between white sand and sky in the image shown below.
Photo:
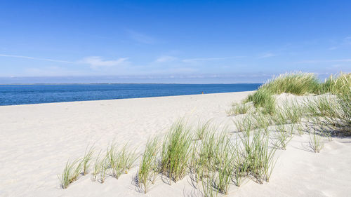
<path fill-rule="evenodd" d="M 260 83 L 239 84 L 89 84 L 3 85 L 0 105 L 110 100 L 138 97 L 230 93 L 256 90 Z"/>

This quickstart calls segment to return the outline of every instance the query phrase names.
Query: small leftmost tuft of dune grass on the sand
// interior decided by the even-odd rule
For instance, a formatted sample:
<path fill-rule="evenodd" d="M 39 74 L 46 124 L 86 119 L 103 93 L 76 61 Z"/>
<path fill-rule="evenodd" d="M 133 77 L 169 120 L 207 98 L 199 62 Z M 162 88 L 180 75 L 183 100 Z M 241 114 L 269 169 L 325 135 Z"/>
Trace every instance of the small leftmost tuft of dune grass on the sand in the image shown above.
<path fill-rule="evenodd" d="M 81 160 L 77 159 L 72 162 L 67 161 L 62 175 L 59 177 L 63 189 L 67 189 L 69 184 L 77 180 L 81 172 Z"/>

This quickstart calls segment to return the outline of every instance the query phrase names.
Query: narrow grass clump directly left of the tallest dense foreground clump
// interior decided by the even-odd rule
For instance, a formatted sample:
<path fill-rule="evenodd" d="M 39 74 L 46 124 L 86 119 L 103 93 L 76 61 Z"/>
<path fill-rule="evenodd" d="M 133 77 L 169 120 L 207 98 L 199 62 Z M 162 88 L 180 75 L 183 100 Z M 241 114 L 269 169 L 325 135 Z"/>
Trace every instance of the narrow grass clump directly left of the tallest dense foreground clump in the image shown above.
<path fill-rule="evenodd" d="M 144 192 L 147 193 L 150 184 L 154 184 L 156 175 L 159 172 L 157 155 L 159 154 L 159 140 L 147 140 L 143 158 L 138 170 L 138 186 L 143 185 Z"/>

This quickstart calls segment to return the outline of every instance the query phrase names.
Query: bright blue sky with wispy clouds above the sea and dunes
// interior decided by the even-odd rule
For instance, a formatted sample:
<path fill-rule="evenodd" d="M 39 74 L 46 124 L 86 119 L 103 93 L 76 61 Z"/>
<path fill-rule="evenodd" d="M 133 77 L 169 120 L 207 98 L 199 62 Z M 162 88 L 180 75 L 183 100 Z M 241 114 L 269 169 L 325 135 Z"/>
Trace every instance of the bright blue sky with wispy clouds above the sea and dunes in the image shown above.
<path fill-rule="evenodd" d="M 350 10 L 336 0 L 0 1 L 0 83 L 351 72 Z"/>

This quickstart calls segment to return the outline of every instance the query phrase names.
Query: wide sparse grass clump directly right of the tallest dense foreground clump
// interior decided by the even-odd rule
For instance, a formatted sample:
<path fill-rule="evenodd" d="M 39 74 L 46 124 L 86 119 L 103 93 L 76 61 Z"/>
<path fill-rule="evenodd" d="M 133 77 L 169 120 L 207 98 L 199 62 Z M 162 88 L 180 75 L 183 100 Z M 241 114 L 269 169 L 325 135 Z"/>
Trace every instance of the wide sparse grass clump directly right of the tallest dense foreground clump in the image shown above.
<path fill-rule="evenodd" d="M 232 145 L 226 129 L 217 132 L 218 128 L 213 127 L 197 144 L 192 156 L 192 172 L 195 182 L 201 182 L 204 196 L 226 194 L 230 188 L 234 168 Z"/>

